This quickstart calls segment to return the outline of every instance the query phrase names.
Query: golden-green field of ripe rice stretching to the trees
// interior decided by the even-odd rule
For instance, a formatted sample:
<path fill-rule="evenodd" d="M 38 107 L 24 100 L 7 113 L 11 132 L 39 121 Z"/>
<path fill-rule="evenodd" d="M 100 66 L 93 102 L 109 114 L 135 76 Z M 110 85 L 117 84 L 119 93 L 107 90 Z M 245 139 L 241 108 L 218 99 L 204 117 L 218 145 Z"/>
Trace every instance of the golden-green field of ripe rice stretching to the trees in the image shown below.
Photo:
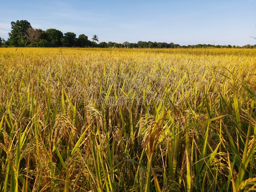
<path fill-rule="evenodd" d="M 0 49 L 1 191 L 256 188 L 256 50 Z"/>

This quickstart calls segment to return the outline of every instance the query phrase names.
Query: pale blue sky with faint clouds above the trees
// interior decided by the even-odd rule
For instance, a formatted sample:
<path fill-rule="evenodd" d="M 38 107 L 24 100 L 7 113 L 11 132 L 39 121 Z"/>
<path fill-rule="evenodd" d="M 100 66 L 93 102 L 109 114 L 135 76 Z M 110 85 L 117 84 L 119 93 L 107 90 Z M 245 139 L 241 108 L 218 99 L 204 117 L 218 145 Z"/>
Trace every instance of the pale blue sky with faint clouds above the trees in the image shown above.
<path fill-rule="evenodd" d="M 117 43 L 256 44 L 256 0 L 10 1 L 0 0 L 0 36 L 11 21 L 99 36 Z"/>

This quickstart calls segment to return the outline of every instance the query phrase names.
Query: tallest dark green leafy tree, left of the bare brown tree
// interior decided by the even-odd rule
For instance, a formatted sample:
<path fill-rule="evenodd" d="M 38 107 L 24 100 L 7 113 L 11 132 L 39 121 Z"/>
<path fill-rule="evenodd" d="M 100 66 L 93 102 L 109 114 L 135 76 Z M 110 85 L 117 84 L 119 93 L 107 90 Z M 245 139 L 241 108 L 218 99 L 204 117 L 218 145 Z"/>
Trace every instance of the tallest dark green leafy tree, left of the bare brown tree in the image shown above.
<path fill-rule="evenodd" d="M 24 42 L 27 41 L 25 32 L 28 28 L 31 28 L 30 23 L 27 20 L 17 20 L 11 22 L 11 32 L 9 35 L 9 44 L 14 46 L 23 46 Z"/>

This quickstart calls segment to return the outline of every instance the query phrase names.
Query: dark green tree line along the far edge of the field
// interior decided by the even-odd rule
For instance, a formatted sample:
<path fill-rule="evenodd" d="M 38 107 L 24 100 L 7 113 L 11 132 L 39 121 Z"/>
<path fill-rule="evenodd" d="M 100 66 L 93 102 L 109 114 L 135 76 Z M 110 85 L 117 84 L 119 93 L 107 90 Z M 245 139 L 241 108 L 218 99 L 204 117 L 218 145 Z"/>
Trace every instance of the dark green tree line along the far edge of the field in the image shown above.
<path fill-rule="evenodd" d="M 256 48 L 255 45 L 179 45 L 165 42 L 145 42 L 138 43 L 124 42 L 122 44 L 116 42 L 99 42 L 97 35 L 92 36 L 92 41 L 88 36 L 81 34 L 76 37 L 73 32 L 62 33 L 60 30 L 50 28 L 47 30 L 32 28 L 27 20 L 17 20 L 11 22 L 11 32 L 8 33 L 9 38 L 4 40 L 0 37 L 0 46 L 2 47 L 101 47 L 101 48 Z"/>

